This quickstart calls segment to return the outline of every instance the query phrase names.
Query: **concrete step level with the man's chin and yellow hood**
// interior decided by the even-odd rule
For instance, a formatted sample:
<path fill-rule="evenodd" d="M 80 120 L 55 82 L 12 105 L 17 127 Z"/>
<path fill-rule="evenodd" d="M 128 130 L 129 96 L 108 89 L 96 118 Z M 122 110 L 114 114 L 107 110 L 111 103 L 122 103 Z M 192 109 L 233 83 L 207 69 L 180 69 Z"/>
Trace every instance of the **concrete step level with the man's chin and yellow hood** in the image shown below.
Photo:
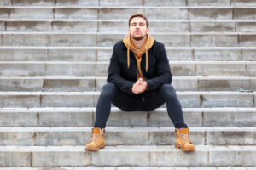
<path fill-rule="evenodd" d="M 170 47 L 255 47 L 256 34 L 221 33 L 154 33 L 156 40 Z M 126 35 L 84 32 L 2 32 L 1 46 L 113 46 Z M 84 41 L 86 39 L 87 41 Z"/>

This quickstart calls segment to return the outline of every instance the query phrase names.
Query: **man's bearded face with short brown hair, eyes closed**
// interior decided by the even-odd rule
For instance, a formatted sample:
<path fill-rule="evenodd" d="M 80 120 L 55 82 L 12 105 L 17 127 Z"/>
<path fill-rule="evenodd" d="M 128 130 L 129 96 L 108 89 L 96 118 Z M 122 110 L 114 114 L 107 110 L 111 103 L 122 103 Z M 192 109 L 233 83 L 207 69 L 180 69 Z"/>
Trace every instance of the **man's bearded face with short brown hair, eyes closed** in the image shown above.
<path fill-rule="evenodd" d="M 146 20 L 144 20 L 142 17 L 134 17 L 131 19 L 128 32 L 134 40 L 142 40 L 149 32 L 146 25 Z"/>

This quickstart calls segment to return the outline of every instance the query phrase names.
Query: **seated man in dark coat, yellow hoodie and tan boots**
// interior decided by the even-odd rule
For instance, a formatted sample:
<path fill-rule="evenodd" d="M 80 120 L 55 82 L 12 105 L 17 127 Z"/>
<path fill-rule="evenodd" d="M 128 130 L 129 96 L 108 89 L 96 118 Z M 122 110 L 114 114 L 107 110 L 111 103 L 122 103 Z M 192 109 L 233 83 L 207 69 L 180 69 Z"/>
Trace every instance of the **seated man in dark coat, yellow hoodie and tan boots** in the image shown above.
<path fill-rule="evenodd" d="M 123 111 L 153 111 L 166 103 L 177 133 L 175 146 L 183 151 L 195 150 L 184 123 L 183 111 L 175 89 L 163 43 L 149 36 L 148 20 L 133 14 L 129 35 L 113 46 L 108 67 L 108 84 L 104 85 L 96 105 L 96 122 L 86 150 L 105 147 L 104 129 L 111 103 Z"/>

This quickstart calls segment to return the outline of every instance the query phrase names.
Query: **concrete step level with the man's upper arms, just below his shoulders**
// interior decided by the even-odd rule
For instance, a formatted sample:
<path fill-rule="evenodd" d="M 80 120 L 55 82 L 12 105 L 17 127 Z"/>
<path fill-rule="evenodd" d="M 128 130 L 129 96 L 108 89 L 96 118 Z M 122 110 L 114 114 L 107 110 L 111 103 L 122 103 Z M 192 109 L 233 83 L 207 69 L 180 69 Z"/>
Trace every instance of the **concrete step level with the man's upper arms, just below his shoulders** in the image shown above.
<path fill-rule="evenodd" d="M 109 61 L 113 47 L 0 47 L 0 61 Z M 166 47 L 170 61 L 256 61 L 253 47 Z"/>

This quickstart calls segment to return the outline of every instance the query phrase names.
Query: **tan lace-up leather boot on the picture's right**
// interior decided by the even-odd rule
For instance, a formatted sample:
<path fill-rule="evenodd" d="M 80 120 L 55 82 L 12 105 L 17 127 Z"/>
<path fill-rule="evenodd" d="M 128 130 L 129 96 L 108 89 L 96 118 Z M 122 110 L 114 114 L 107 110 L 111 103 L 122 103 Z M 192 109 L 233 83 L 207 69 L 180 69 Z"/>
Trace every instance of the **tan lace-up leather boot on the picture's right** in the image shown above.
<path fill-rule="evenodd" d="M 177 134 L 176 138 L 176 148 L 180 148 L 183 151 L 194 151 L 195 145 L 192 144 L 190 138 L 189 138 L 189 128 L 183 128 L 183 129 L 175 129 L 175 132 Z"/>

